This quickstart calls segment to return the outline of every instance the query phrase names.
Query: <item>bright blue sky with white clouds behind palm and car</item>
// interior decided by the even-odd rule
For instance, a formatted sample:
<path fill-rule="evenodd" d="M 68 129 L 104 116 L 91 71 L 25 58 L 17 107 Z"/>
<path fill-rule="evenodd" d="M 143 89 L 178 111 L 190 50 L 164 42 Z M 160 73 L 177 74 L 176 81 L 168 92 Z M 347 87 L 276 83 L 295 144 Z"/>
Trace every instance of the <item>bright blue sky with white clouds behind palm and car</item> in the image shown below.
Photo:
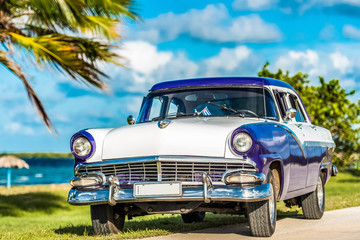
<path fill-rule="evenodd" d="M 143 21 L 125 21 L 117 50 L 128 69 L 102 68 L 108 94 L 54 69 L 21 66 L 59 134 L 48 133 L 22 83 L 0 66 L 0 152 L 68 152 L 78 130 L 125 125 L 155 83 L 204 76 L 256 76 L 270 69 L 339 79 L 360 98 L 360 0 L 138 0 Z"/>

